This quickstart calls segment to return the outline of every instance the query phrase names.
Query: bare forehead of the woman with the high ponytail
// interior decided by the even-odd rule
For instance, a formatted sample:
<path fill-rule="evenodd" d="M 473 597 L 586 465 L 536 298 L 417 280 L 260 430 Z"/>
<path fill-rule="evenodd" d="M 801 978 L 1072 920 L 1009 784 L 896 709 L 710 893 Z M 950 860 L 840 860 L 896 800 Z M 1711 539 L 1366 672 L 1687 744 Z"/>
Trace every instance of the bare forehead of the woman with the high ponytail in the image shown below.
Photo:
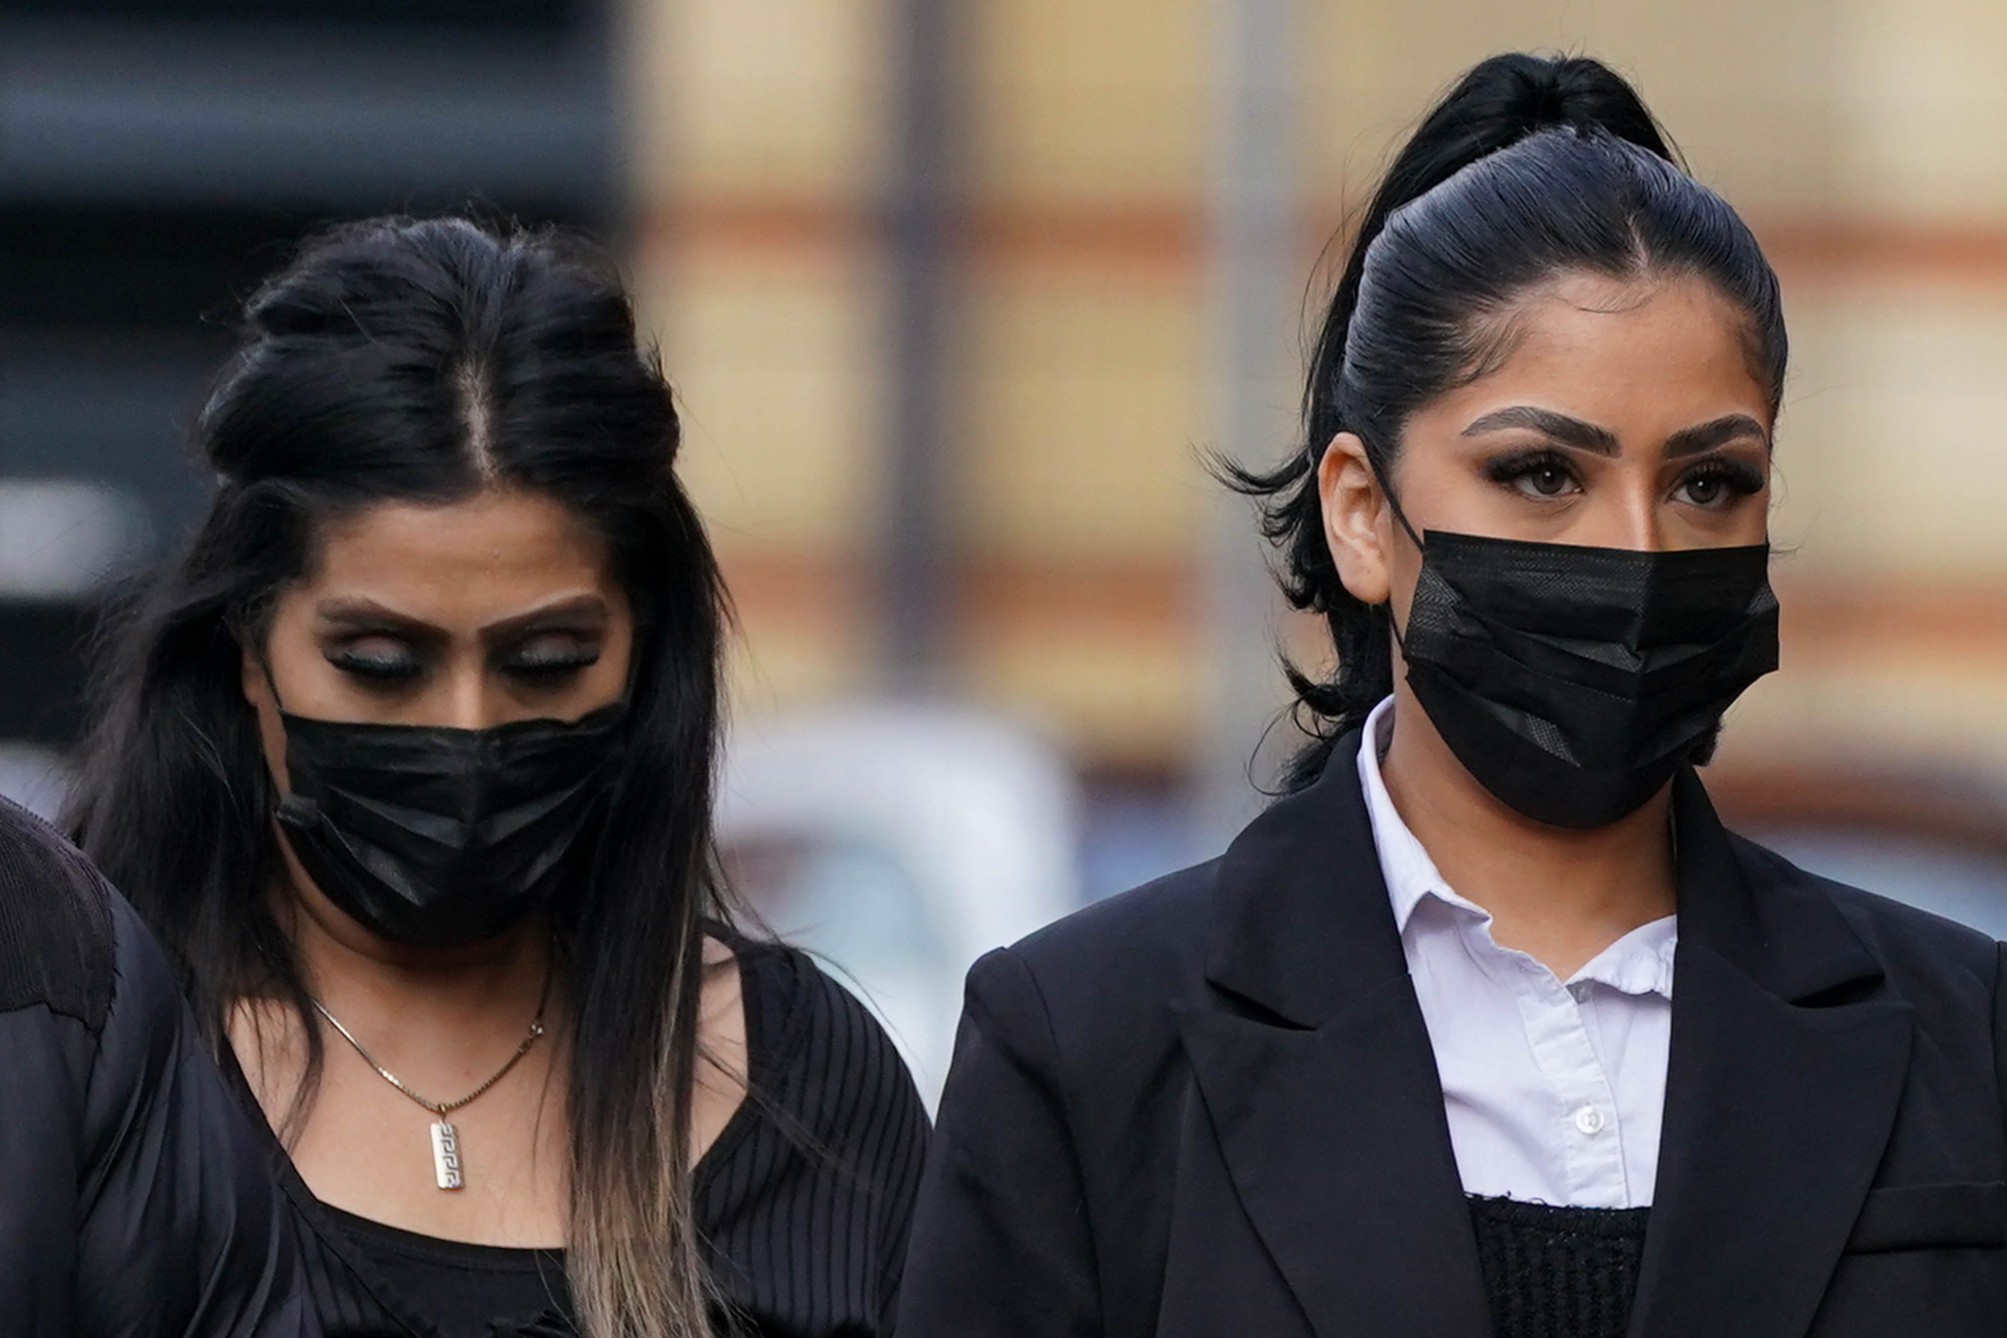
<path fill-rule="evenodd" d="M 1770 423 L 1748 321 L 1702 277 L 1563 275 L 1505 315 L 1501 351 L 1435 407 L 1537 403 L 1618 429 L 1674 431 L 1722 413 Z"/>

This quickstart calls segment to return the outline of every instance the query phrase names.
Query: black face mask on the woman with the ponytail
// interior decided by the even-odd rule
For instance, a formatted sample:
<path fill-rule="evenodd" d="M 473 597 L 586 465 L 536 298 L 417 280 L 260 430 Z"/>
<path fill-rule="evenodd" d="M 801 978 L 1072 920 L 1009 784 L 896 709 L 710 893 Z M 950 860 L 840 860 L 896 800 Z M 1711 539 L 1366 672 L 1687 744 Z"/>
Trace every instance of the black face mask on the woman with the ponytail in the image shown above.
<path fill-rule="evenodd" d="M 1588 828 L 1652 798 L 1776 668 L 1776 612 L 1764 544 L 1638 552 L 1431 530 L 1397 638 L 1415 700 L 1477 782 Z"/>

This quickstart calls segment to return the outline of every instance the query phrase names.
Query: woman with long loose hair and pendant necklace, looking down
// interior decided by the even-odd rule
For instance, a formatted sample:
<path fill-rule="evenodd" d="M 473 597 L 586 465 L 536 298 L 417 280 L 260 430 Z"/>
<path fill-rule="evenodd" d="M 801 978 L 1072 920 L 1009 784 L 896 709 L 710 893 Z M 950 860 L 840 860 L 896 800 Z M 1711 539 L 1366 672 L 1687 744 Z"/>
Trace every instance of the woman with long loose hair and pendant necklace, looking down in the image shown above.
<path fill-rule="evenodd" d="M 329 1324 L 883 1334 L 925 1115 L 714 877 L 725 592 L 590 249 L 371 221 L 259 291 L 70 826 L 285 1143 Z"/>

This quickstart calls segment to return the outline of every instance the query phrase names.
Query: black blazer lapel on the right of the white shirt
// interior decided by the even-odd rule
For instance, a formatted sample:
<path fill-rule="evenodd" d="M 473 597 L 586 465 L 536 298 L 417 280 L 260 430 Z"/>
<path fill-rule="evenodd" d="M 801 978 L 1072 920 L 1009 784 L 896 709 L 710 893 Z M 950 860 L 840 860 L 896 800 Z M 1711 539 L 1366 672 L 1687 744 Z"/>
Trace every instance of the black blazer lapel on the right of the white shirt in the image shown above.
<path fill-rule="evenodd" d="M 1832 899 L 1676 782 L 1680 947 L 1634 1338 L 1806 1332 L 1895 1123 L 1909 1005 Z"/>

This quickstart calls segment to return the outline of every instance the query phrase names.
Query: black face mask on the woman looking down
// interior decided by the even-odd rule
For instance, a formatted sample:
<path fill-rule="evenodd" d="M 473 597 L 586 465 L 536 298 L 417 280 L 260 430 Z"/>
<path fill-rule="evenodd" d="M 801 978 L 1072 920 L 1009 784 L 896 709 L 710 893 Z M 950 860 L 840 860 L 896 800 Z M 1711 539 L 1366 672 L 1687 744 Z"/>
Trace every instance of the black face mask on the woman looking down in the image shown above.
<path fill-rule="evenodd" d="M 620 774 L 624 704 L 490 730 L 281 712 L 293 855 L 393 943 L 490 939 L 546 907 Z"/>

